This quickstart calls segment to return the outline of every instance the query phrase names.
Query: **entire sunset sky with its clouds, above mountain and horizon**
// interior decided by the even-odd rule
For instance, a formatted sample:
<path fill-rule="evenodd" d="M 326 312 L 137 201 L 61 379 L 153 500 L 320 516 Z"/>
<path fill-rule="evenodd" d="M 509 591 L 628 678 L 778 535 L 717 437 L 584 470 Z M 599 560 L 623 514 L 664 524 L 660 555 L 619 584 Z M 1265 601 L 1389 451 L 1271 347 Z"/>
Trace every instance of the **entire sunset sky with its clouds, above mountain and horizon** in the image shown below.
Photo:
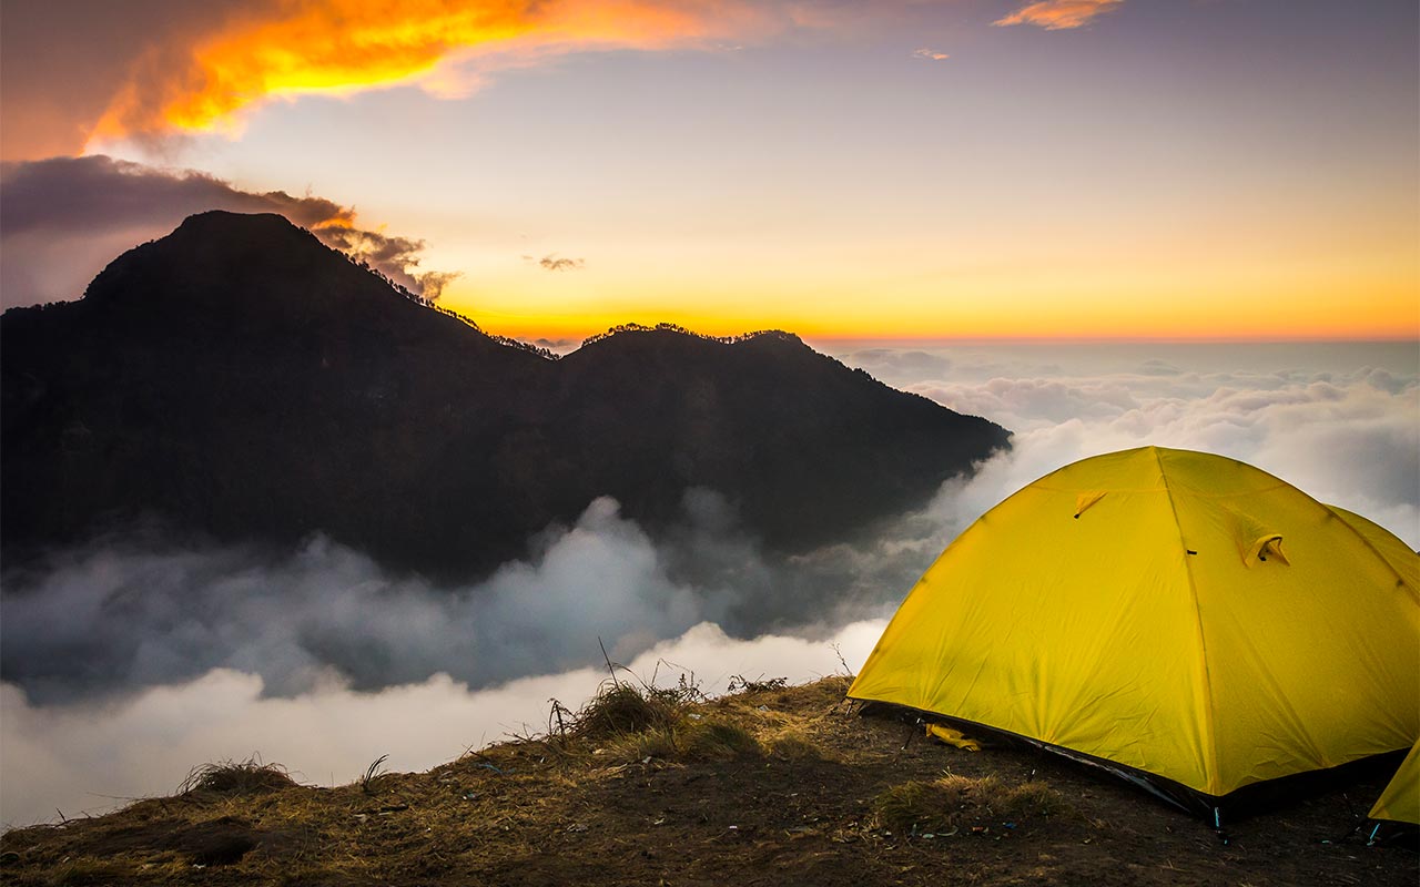
<path fill-rule="evenodd" d="M 525 338 L 1420 334 L 1411 0 L 0 9 L 7 307 L 224 206 Z"/>

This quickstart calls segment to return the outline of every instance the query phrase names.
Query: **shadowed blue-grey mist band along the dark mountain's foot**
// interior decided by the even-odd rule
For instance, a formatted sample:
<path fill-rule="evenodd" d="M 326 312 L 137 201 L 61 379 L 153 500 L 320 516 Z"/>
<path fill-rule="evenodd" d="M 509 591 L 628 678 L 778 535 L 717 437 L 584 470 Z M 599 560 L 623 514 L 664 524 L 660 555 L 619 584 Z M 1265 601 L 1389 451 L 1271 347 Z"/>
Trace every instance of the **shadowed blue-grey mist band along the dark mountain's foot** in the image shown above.
<path fill-rule="evenodd" d="M 439 673 L 480 688 L 594 664 L 598 640 L 630 660 L 701 622 L 740 637 L 822 636 L 882 615 L 924 566 L 872 546 L 765 558 L 709 491 L 690 491 L 684 514 L 656 545 L 615 501 L 596 500 L 574 527 L 545 532 L 532 559 L 454 589 L 392 576 L 324 538 L 278 556 L 102 539 L 6 576 L 0 674 L 41 703 L 212 668 L 260 676 L 274 695 Z"/>

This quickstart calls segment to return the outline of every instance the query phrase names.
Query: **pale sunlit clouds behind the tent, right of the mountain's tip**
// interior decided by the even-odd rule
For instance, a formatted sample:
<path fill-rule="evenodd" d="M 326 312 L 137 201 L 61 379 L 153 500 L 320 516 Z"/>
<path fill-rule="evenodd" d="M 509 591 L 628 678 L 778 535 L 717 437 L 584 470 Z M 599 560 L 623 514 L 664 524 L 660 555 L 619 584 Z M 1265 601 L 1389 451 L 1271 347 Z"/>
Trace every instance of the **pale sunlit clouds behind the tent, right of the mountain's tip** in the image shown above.
<path fill-rule="evenodd" d="M 1349 369 L 1308 368 L 1305 346 L 1278 355 L 1275 368 L 1198 369 L 1194 360 L 1181 369 L 1176 363 L 1190 360 L 1150 358 L 1078 372 L 1069 363 L 1083 351 L 1071 355 L 1047 346 L 1032 355 L 1037 362 L 947 366 L 906 387 L 957 412 L 985 416 L 1011 429 L 1014 439 L 1011 451 L 981 465 L 976 478 L 949 483 L 936 514 L 960 532 L 976 515 L 1055 468 L 1156 444 L 1242 460 L 1420 546 L 1420 426 L 1414 422 L 1420 379 L 1406 368 L 1413 363 L 1406 356 L 1411 346 L 1349 348 L 1355 355 Z M 1248 349 L 1235 346 L 1234 353 Z M 1179 355 L 1193 356 L 1187 348 Z M 916 360 L 930 372 L 924 358 Z M 903 378 L 900 362 L 885 362 L 880 349 L 843 359 Z M 1373 365 L 1377 359 L 1386 366 Z"/>

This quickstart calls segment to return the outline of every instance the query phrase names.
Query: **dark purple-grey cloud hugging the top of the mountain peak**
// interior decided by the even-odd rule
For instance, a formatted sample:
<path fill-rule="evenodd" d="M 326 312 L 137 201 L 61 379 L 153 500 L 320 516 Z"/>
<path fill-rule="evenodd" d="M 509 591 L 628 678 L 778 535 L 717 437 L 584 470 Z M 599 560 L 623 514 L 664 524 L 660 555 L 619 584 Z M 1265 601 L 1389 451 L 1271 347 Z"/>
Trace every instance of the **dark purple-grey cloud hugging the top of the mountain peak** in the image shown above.
<path fill-rule="evenodd" d="M 311 194 L 246 192 L 195 170 L 159 170 L 106 156 L 51 158 L 0 165 L 0 189 L 6 308 L 78 298 L 122 251 L 213 209 L 280 213 L 429 298 L 456 277 L 420 271 L 422 240 L 359 228 L 348 206 Z"/>

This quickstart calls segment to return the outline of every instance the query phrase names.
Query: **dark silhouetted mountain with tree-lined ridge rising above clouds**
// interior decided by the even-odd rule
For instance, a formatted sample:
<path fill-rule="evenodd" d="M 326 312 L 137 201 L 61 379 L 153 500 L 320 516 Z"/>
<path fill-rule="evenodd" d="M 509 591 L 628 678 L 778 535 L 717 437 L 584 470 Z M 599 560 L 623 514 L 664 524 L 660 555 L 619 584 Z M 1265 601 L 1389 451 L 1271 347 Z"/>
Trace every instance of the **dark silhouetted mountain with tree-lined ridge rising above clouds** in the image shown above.
<path fill-rule="evenodd" d="M 781 332 L 630 328 L 557 360 L 271 214 L 189 217 L 82 299 L 0 316 L 7 563 L 156 515 L 471 578 L 598 495 L 656 534 L 692 487 L 792 552 L 1004 446 Z"/>

